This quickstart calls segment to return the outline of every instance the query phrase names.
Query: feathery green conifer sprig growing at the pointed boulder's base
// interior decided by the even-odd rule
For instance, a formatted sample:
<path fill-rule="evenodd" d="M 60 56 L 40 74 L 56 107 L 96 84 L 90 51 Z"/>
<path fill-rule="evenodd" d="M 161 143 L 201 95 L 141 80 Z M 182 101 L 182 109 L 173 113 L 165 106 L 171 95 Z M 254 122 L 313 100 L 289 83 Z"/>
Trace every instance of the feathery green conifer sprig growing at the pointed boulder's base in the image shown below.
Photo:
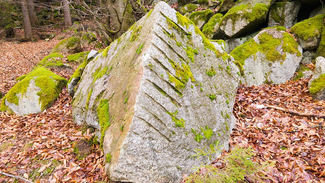
<path fill-rule="evenodd" d="M 241 148 L 235 147 L 231 152 L 221 156 L 218 159 L 218 166 L 200 165 L 195 167 L 198 171 L 186 178 L 185 183 L 234 183 L 234 182 L 264 182 L 264 176 L 261 173 L 266 167 L 271 164 L 265 162 L 262 164 L 255 163 L 251 159 L 254 155 L 251 147 Z M 220 152 L 219 147 L 204 147 L 203 150 L 196 149 L 194 156 L 201 159 L 207 158 L 208 162 L 211 160 L 213 154 Z M 205 163 L 206 163 L 205 162 Z M 219 165 L 220 164 L 220 165 Z M 200 173 L 200 169 L 205 169 L 206 173 Z"/>

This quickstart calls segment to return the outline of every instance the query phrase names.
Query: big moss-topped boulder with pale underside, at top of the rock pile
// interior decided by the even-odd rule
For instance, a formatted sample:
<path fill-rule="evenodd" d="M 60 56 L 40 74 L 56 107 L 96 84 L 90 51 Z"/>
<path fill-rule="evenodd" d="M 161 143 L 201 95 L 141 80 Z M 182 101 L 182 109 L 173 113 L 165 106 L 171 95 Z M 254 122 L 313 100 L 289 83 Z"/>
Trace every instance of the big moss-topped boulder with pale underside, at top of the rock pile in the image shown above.
<path fill-rule="evenodd" d="M 238 1 L 221 19 L 220 28 L 229 37 L 241 36 L 266 20 L 271 0 Z"/>

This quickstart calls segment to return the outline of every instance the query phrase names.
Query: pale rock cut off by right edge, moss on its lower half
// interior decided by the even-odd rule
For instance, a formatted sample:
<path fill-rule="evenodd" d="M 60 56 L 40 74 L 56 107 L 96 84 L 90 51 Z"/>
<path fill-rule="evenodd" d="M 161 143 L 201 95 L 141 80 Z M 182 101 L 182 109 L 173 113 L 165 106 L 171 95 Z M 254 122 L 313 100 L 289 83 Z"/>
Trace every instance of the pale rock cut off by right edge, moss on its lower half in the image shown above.
<path fill-rule="evenodd" d="M 308 83 L 310 95 L 315 100 L 325 100 L 325 58 L 316 58 L 315 72 Z"/>

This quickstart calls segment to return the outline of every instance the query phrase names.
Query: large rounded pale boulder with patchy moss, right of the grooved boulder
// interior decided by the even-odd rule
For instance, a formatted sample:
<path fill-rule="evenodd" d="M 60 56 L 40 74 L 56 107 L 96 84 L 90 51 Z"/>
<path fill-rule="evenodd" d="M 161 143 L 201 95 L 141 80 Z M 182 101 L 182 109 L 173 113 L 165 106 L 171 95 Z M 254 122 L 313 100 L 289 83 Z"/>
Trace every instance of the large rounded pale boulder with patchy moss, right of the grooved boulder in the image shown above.
<path fill-rule="evenodd" d="M 241 82 L 280 84 L 290 79 L 302 58 L 302 48 L 284 27 L 260 31 L 231 53 L 240 68 Z"/>

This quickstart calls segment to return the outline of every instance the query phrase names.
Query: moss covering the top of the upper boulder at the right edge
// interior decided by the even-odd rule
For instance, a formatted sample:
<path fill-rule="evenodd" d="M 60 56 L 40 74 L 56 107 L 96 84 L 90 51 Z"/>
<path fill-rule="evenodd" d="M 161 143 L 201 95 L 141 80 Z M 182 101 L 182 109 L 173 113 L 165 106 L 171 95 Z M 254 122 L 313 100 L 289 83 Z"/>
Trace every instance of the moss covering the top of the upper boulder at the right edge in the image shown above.
<path fill-rule="evenodd" d="M 325 14 L 322 14 L 301 21 L 294 25 L 290 32 L 305 41 L 312 37 L 318 37 L 324 27 L 324 17 Z"/>

